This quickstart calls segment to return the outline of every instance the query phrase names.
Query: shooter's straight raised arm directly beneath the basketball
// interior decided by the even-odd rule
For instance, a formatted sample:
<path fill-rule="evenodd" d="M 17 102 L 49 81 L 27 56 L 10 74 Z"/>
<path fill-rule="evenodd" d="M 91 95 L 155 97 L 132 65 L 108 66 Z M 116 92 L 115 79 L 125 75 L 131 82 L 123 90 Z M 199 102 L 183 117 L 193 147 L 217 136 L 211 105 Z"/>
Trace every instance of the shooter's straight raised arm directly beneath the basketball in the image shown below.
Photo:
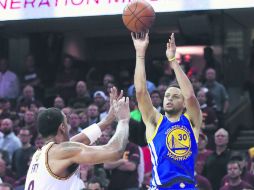
<path fill-rule="evenodd" d="M 146 124 L 146 137 L 149 139 L 155 131 L 160 113 L 153 107 L 150 94 L 146 87 L 145 54 L 149 44 L 148 33 L 132 33 L 132 40 L 136 50 L 136 67 L 134 73 L 134 86 L 138 108 Z"/>

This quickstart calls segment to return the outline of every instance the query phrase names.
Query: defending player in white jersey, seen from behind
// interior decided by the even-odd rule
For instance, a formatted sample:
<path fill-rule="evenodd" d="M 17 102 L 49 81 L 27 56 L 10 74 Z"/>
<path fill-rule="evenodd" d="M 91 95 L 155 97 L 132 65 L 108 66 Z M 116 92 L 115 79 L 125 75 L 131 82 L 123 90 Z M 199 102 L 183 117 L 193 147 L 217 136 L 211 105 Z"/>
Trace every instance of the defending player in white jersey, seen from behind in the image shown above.
<path fill-rule="evenodd" d="M 121 96 L 121 95 L 120 95 Z M 114 100 L 113 109 L 118 120 L 114 136 L 103 146 L 87 146 L 100 135 L 97 124 L 90 126 L 69 141 L 66 116 L 56 108 L 49 108 L 38 115 L 38 130 L 46 145 L 32 158 L 25 190 L 80 190 L 79 164 L 99 164 L 120 159 L 125 150 L 129 132 L 129 99 Z M 72 139 L 73 140 L 73 139 Z"/>

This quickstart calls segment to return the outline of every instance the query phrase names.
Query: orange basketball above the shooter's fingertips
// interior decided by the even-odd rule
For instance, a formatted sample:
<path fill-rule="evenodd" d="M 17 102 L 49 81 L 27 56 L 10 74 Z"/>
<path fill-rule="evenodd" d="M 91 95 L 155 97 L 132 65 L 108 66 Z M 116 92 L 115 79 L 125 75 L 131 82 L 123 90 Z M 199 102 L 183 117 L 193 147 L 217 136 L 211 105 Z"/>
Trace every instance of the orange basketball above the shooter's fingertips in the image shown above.
<path fill-rule="evenodd" d="M 132 32 L 144 32 L 155 20 L 153 7 L 144 0 L 132 1 L 123 10 L 123 23 Z"/>

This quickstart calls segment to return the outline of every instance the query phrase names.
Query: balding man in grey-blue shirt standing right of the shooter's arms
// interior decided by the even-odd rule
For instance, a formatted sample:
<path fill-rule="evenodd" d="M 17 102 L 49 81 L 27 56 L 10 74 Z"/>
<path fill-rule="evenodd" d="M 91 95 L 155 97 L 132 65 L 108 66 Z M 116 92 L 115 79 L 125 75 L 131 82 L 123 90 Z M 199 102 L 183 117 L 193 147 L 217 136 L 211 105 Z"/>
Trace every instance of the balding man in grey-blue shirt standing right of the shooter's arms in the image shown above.
<path fill-rule="evenodd" d="M 227 113 L 229 107 L 228 94 L 225 87 L 216 81 L 216 71 L 212 68 L 206 70 L 205 87 L 208 88 L 214 97 L 219 127 L 223 127 L 223 117 L 225 113 Z"/>

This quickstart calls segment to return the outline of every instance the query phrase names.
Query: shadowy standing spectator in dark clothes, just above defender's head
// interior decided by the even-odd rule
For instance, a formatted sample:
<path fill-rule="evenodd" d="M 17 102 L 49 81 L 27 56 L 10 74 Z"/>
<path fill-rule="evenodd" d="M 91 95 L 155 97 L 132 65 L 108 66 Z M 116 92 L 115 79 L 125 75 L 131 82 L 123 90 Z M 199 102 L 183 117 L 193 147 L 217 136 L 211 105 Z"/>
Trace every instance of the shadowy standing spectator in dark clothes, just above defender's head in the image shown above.
<path fill-rule="evenodd" d="M 75 85 L 79 79 L 79 71 L 73 67 L 73 59 L 70 56 L 64 56 L 63 69 L 57 74 L 55 87 L 58 93 L 66 101 L 75 95 Z"/>

